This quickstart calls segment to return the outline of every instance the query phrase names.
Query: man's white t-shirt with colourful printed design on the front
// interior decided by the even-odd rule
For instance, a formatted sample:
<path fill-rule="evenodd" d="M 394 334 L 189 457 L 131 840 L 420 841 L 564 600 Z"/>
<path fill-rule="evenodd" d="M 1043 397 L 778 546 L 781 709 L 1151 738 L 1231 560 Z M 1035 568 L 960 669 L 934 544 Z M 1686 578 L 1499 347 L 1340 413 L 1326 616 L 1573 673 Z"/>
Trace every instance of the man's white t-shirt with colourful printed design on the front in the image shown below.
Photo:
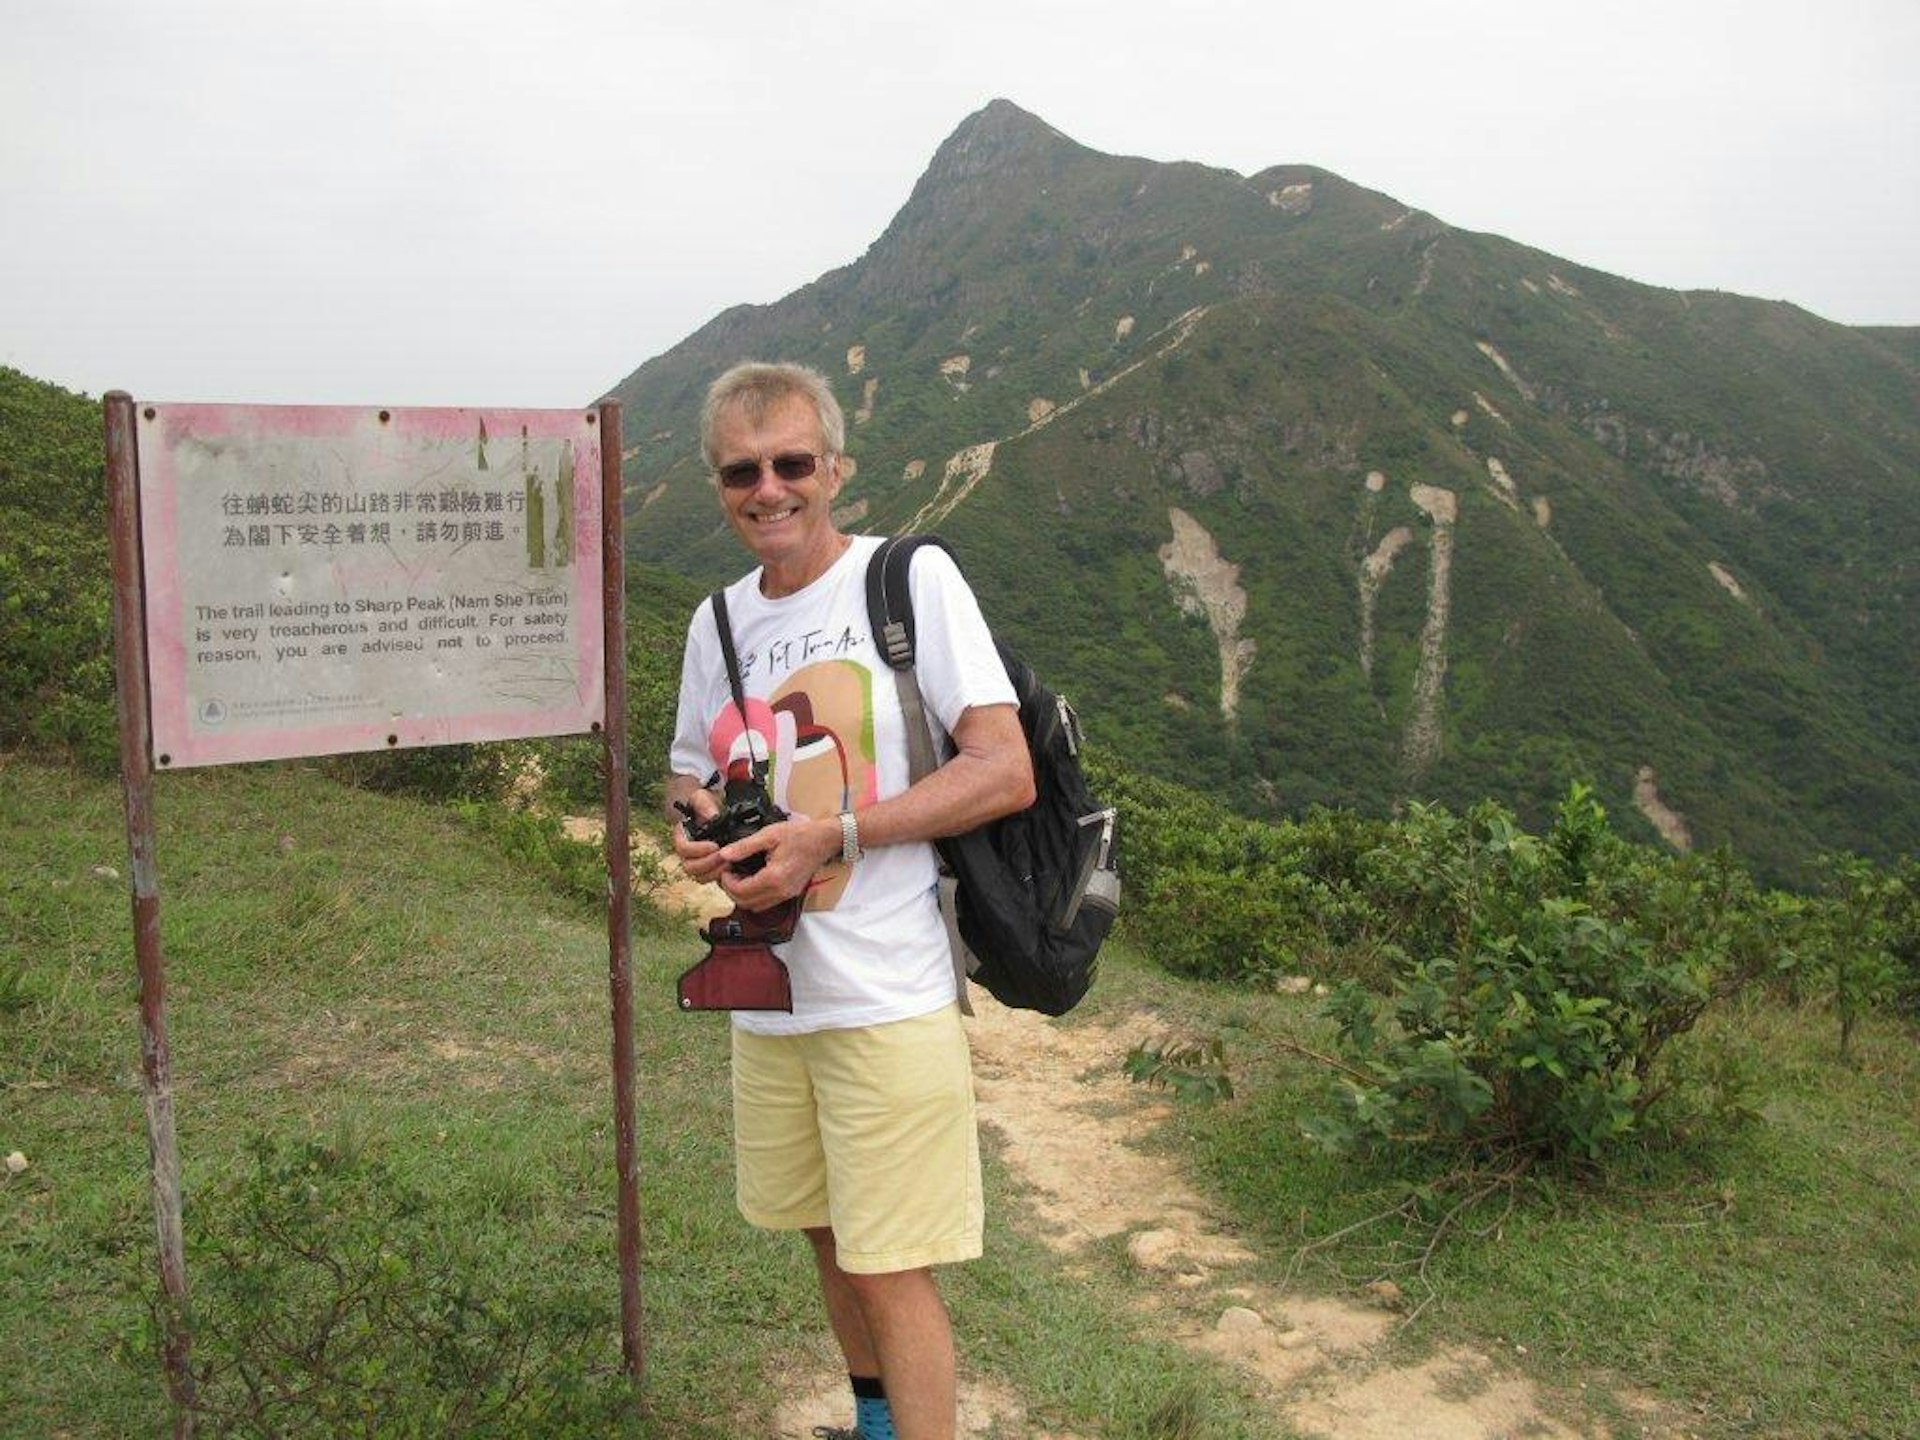
<path fill-rule="evenodd" d="M 866 612 L 866 566 L 879 536 L 858 536 L 793 595 L 768 599 L 755 568 L 726 589 L 747 691 L 741 722 L 726 682 L 712 605 L 687 626 L 670 768 L 705 780 L 733 758 L 772 758 L 768 785 L 789 814 L 835 816 L 908 787 L 906 732 L 893 672 Z M 1014 705 L 979 603 L 952 559 L 929 545 L 908 572 L 916 668 L 941 733 L 975 705 Z M 939 753 L 945 753 L 941 749 Z M 793 941 L 776 948 L 793 977 L 793 1014 L 733 1012 L 760 1035 L 879 1025 L 954 998 L 929 843 L 885 845 L 814 876 Z"/>

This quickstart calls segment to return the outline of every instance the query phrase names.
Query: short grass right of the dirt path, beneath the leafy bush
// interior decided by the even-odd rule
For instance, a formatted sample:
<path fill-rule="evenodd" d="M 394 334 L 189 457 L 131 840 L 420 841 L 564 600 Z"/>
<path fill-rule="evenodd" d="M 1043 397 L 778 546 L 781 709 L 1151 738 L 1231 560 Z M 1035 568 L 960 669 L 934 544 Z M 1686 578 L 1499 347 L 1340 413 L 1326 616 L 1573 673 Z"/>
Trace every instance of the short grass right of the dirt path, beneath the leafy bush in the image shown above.
<path fill-rule="evenodd" d="M 1225 1039 L 1238 1098 L 1183 1112 L 1179 1144 L 1240 1225 L 1306 1256 L 1309 1284 L 1405 1281 L 1419 1225 L 1309 1250 L 1407 1188 L 1300 1135 L 1323 1077 L 1271 1041 L 1329 1050 L 1313 1002 L 1164 995 Z M 1432 1298 L 1404 1340 L 1478 1336 L 1553 1388 L 1651 1392 L 1703 1440 L 1920 1434 L 1912 1027 L 1880 1018 L 1843 1064 L 1832 1016 L 1755 1000 L 1709 1018 L 1686 1048 L 1695 1068 L 1747 1075 L 1759 1117 L 1672 1135 L 1609 1177 L 1532 1177 L 1511 1208 L 1482 1208 L 1436 1254 Z"/>

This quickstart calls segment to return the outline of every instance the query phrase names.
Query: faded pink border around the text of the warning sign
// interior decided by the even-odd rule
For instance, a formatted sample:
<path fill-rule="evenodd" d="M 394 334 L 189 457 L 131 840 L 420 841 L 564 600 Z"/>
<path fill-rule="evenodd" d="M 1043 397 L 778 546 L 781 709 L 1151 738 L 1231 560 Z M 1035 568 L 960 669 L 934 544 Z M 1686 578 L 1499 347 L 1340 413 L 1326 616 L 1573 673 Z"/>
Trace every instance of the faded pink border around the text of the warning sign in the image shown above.
<path fill-rule="evenodd" d="M 142 570 L 146 580 L 148 684 L 154 758 L 169 770 L 301 755 L 455 745 L 488 739 L 574 735 L 605 724 L 607 668 L 601 616 L 601 434 L 593 411 L 394 409 L 363 405 L 198 405 L 138 401 Z M 503 444 L 574 444 L 574 559 L 570 609 L 576 618 L 576 699 L 540 710 L 482 710 L 459 716 L 392 714 L 378 722 L 292 722 L 230 735 L 194 733 L 186 689 L 186 618 L 179 570 L 179 484 L 175 449 L 186 438 L 273 436 L 349 440 L 397 436 L 470 444 L 480 422 Z M 163 758 L 165 756 L 165 758 Z"/>

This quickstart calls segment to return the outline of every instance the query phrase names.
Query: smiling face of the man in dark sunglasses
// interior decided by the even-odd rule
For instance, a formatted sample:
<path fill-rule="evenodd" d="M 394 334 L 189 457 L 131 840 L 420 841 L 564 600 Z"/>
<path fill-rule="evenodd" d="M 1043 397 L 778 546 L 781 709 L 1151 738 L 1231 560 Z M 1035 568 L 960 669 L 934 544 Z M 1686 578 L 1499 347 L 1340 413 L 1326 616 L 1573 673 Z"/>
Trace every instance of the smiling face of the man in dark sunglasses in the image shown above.
<path fill-rule="evenodd" d="M 839 555 L 831 505 L 839 493 L 839 457 L 828 455 L 804 480 L 781 480 L 768 461 L 781 455 L 814 455 L 826 449 L 820 417 L 804 396 L 789 396 L 758 424 L 745 407 L 730 405 L 714 422 L 716 468 L 758 463 L 751 486 L 720 486 L 720 503 L 741 543 L 766 566 L 776 584 L 797 589 Z"/>

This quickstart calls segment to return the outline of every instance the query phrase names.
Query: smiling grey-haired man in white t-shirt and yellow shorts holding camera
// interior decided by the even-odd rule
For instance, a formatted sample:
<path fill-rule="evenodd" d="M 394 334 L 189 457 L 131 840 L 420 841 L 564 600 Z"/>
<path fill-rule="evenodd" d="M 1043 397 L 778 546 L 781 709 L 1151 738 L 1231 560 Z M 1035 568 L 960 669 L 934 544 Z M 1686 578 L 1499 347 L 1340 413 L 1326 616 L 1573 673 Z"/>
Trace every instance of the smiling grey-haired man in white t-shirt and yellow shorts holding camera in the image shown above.
<path fill-rule="evenodd" d="M 851 472 L 826 378 L 737 365 L 707 394 L 720 505 L 758 561 L 728 586 L 745 712 L 710 605 L 687 626 L 668 803 L 718 810 L 710 774 L 770 760 L 789 820 L 674 849 L 745 910 L 797 895 L 793 1012 L 733 1014 L 741 1213 L 812 1242 L 858 1440 L 950 1440 L 954 1342 L 933 1265 L 981 1252 L 973 1079 L 931 841 L 1031 804 L 1033 770 L 979 605 L 952 561 L 912 566 L 918 678 L 952 758 L 908 783 L 906 732 L 866 611 L 877 538 L 833 524 Z M 764 856 L 741 874 L 749 856 Z"/>

